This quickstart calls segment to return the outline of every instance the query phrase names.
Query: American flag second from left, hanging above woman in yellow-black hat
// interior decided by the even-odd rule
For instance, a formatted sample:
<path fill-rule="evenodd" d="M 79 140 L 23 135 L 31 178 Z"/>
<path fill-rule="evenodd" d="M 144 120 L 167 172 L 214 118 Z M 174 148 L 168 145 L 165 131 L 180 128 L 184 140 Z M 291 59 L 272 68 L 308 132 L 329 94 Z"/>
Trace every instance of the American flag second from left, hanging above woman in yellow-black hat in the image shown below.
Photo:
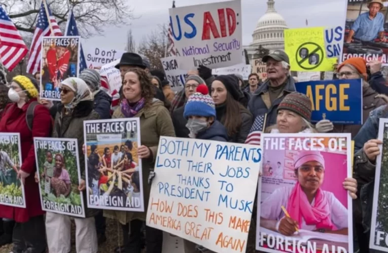
<path fill-rule="evenodd" d="M 47 11 L 49 13 L 50 20 L 47 18 L 45 7 L 42 1 L 41 8 L 39 9 L 38 13 L 37 27 L 33 33 L 31 48 L 29 50 L 27 72 L 30 74 L 41 70 L 41 49 L 43 36 L 62 36 L 62 32 L 59 29 L 57 21 L 52 15 L 49 6 L 47 6 Z M 54 34 L 51 33 L 49 22 L 51 23 Z"/>

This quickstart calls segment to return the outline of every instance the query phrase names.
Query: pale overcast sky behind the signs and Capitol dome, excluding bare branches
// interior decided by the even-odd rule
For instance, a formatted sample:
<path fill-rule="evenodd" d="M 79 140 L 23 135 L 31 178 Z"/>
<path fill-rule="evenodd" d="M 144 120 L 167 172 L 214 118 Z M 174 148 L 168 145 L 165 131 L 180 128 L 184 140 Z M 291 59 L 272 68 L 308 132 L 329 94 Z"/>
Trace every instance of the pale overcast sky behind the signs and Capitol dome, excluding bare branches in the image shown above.
<path fill-rule="evenodd" d="M 127 0 L 130 1 L 130 0 Z M 223 2 L 222 0 L 176 0 L 176 7 L 195 4 Z M 276 11 L 284 17 L 289 28 L 344 25 L 346 0 L 275 0 Z M 242 0 L 242 42 L 252 43 L 252 32 L 257 21 L 267 10 L 267 0 Z M 298 4 L 296 4 L 298 3 Z M 170 0 L 130 1 L 133 14 L 138 19 L 131 21 L 132 34 L 138 44 L 144 36 L 158 29 L 158 24 L 169 20 Z M 105 27 L 104 36 L 89 38 L 86 44 L 98 45 L 104 49 L 123 50 L 126 46 L 128 27 Z"/>

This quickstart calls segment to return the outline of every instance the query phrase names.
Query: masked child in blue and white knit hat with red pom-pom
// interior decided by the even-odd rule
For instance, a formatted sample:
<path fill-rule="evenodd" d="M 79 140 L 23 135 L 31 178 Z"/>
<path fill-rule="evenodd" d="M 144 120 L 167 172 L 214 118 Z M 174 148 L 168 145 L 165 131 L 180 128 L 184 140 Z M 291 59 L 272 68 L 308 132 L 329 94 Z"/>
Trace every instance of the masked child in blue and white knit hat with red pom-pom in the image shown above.
<path fill-rule="evenodd" d="M 184 117 L 190 138 L 212 141 L 228 141 L 225 126 L 216 120 L 216 107 L 209 96 L 207 86 L 199 85 L 185 105 Z"/>

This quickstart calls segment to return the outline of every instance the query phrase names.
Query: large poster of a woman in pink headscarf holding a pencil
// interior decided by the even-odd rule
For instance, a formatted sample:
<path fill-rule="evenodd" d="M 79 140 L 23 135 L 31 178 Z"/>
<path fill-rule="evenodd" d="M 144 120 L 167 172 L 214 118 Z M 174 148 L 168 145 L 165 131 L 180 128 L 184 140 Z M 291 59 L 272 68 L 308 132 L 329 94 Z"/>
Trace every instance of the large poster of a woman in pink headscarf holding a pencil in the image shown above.
<path fill-rule="evenodd" d="M 342 185 L 351 177 L 350 139 L 350 134 L 262 135 L 256 249 L 353 252 L 352 200 Z"/>

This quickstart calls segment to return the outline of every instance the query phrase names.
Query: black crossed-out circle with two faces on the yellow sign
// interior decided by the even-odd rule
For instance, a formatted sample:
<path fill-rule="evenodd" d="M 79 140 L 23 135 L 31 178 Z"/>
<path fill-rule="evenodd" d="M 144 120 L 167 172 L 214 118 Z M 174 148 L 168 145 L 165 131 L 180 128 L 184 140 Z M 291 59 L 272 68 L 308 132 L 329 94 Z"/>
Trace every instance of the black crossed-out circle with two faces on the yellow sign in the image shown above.
<path fill-rule="evenodd" d="M 300 52 L 301 50 L 307 51 L 307 56 L 302 57 Z M 312 58 L 314 56 L 314 58 Z M 299 67 L 305 70 L 311 70 L 318 68 L 319 65 L 323 62 L 324 51 L 322 47 L 313 42 L 306 42 L 299 46 L 295 53 L 295 59 Z M 312 59 L 316 61 L 313 62 Z"/>

